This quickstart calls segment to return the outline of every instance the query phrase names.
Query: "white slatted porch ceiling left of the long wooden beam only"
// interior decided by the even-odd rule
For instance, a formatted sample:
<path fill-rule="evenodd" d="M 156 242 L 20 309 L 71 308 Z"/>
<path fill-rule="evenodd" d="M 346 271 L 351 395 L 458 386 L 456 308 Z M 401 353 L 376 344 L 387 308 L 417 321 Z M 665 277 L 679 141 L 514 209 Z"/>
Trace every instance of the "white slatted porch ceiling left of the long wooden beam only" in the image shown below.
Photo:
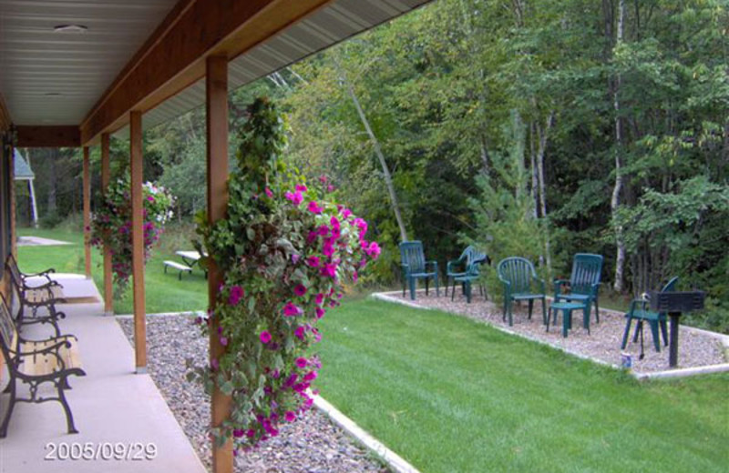
<path fill-rule="evenodd" d="M 15 125 L 79 124 L 176 3 L 0 0 L 0 91 Z"/>

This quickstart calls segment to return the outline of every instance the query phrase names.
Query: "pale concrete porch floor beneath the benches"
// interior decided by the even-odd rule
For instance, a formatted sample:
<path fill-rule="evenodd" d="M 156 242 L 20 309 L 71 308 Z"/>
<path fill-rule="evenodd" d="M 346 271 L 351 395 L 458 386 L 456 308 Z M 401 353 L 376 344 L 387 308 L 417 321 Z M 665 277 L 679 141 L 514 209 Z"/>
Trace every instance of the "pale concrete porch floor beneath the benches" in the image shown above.
<path fill-rule="evenodd" d="M 65 296 L 77 300 L 101 298 L 93 281 L 85 277 L 56 278 L 63 284 Z M 133 350 L 114 317 L 102 315 L 100 302 L 59 308 L 67 314 L 61 331 L 78 337 L 87 373 L 86 377 L 71 377 L 73 388 L 67 391 L 80 433 L 67 434 L 63 408 L 57 402 L 18 403 L 7 437 L 0 439 L 0 473 L 204 473 L 200 458 L 154 382 L 149 375 L 134 373 Z M 27 327 L 24 337 L 43 338 L 49 334 L 48 327 L 33 328 Z M 5 387 L 7 376 L 2 379 L 0 387 Z M 19 386 L 19 392 L 26 392 L 24 385 Z M 49 388 L 48 392 L 55 389 Z M 8 396 L 0 397 L 3 416 Z M 156 455 L 148 458 L 152 449 Z M 117 453 L 124 458 L 117 459 L 121 456 Z"/>

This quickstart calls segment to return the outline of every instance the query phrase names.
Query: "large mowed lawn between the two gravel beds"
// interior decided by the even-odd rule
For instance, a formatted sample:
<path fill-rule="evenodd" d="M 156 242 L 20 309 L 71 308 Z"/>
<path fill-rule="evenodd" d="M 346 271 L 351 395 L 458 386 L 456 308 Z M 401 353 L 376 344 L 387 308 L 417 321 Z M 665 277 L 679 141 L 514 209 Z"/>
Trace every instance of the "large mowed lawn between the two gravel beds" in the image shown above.
<path fill-rule="evenodd" d="M 641 384 L 375 300 L 331 311 L 322 329 L 323 397 L 421 471 L 727 471 L 727 375 Z"/>

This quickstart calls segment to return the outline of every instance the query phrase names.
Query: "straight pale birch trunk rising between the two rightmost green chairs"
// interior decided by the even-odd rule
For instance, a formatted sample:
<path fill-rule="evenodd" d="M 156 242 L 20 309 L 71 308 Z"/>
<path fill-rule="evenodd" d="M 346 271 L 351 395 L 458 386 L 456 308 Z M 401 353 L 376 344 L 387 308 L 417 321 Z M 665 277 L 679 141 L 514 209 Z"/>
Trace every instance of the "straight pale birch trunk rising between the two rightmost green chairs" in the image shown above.
<path fill-rule="evenodd" d="M 616 45 L 622 43 L 623 29 L 625 23 L 625 0 L 619 0 L 618 2 L 618 28 Z M 621 190 L 622 190 L 622 129 L 621 129 L 621 103 L 620 103 L 620 88 L 621 88 L 621 75 L 618 74 L 615 78 L 615 88 L 613 90 L 612 106 L 615 110 L 615 186 L 612 187 L 612 196 L 610 201 L 611 214 L 613 222 L 616 222 L 617 213 L 621 206 Z M 615 280 L 612 284 L 612 288 L 616 292 L 621 292 L 623 289 L 624 275 L 623 269 L 625 267 L 625 241 L 623 238 L 623 228 L 620 225 L 615 224 Z"/>

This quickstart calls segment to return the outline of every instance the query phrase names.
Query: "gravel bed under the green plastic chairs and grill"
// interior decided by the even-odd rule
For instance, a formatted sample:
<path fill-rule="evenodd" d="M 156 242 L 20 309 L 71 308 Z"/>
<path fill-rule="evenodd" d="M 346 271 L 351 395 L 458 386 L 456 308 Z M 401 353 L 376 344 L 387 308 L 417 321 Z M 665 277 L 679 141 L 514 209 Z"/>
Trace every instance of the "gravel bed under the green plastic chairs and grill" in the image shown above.
<path fill-rule="evenodd" d="M 572 312 L 572 329 L 568 337 L 562 337 L 562 319 L 560 315 L 557 318 L 557 324 L 549 323 L 549 332 L 545 330 L 542 323 L 541 302 L 535 302 L 534 312 L 531 320 L 529 320 L 529 310 L 526 303 L 519 306 L 513 306 L 514 325 L 508 327 L 508 321 L 502 321 L 503 308 L 497 306 L 485 297 L 478 295 L 478 290 L 474 287 L 471 303 L 468 304 L 466 297 L 463 297 L 459 289 L 456 290 L 456 297 L 451 302 L 451 295 L 448 293 L 446 297 L 441 290 L 440 297 L 436 297 L 434 290 L 426 296 L 425 291 L 416 293 L 416 300 L 410 300 L 409 292 L 403 297 L 402 291 L 386 293 L 385 296 L 393 297 L 409 303 L 414 303 L 420 307 L 437 308 L 446 312 L 463 315 L 488 324 L 506 327 L 519 334 L 529 337 L 539 338 L 551 345 L 563 347 L 572 352 L 580 353 L 580 355 L 597 358 L 611 365 L 621 364 L 621 353 L 630 353 L 632 355 L 633 370 L 639 373 L 651 373 L 655 371 L 664 371 L 670 369 L 668 366 L 668 347 L 661 347 L 661 352 L 657 353 L 653 347 L 653 338 L 651 329 L 646 323 L 643 328 L 643 338 L 645 347 L 645 357 L 638 359 L 641 353 L 641 340 L 638 338 L 637 343 L 632 343 L 632 334 L 635 322 L 632 324 L 631 336 L 628 345 L 621 350 L 622 333 L 625 329 L 625 318 L 620 312 L 607 310 L 601 307 L 600 323 L 595 323 L 594 307 L 590 318 L 590 335 L 587 330 L 582 327 L 582 311 L 576 310 Z M 549 310 L 549 299 L 547 300 L 547 309 Z M 679 368 L 684 367 L 703 367 L 708 365 L 717 365 L 726 363 L 727 358 L 724 355 L 724 347 L 721 341 L 716 337 L 687 329 L 679 326 Z"/>

